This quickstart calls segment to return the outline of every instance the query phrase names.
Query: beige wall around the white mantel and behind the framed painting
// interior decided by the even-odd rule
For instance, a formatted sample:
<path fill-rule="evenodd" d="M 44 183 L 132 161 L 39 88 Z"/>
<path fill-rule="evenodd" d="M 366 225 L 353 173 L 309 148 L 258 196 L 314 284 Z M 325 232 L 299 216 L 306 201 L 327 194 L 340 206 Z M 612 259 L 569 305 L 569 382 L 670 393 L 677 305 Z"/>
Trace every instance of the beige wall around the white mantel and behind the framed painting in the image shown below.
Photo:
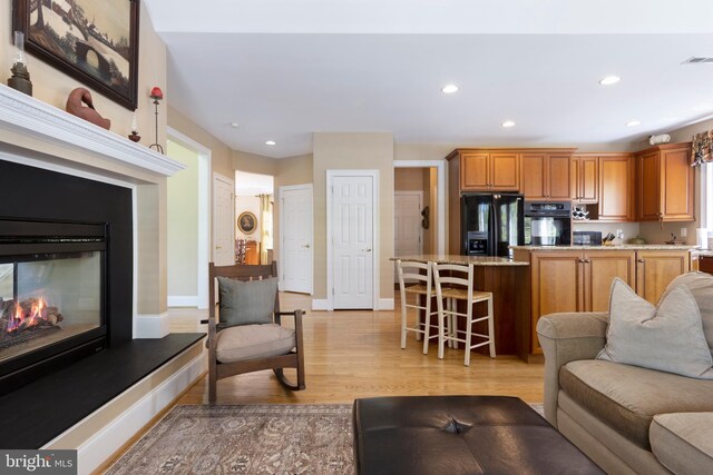
<path fill-rule="evenodd" d="M 4 66 L 4 73 L 9 75 L 10 58 L 13 53 L 11 40 L 12 7 L 10 1 L 3 1 L 0 7 L 0 65 Z M 136 117 L 138 131 L 143 136 L 140 144 L 148 145 L 155 141 L 154 137 L 154 106 L 148 93 L 153 86 L 159 86 L 167 98 L 170 91 L 166 86 L 166 46 L 153 29 L 150 17 L 146 8 L 141 6 L 139 30 L 139 76 L 138 81 L 138 108 Z M 69 92 L 78 87 L 90 90 L 95 108 L 105 118 L 111 120 L 111 131 L 120 136 L 127 136 L 130 130 L 134 112 L 113 102 L 98 92 L 91 90 L 78 80 L 70 78 L 53 67 L 28 55 L 28 70 L 33 86 L 33 97 L 50 106 L 65 109 Z M 7 76 L 2 78 L 4 82 Z M 166 129 L 166 102 L 159 106 L 158 140 L 165 144 Z M 127 139 L 128 140 L 128 139 Z M 115 162 L 91 156 L 80 155 L 68 147 L 57 145 L 47 147 L 36 142 L 26 136 L 8 133 L 1 138 L 6 144 L 4 149 L 13 146 L 25 147 L 30 150 L 45 152 L 60 157 L 68 162 L 85 164 L 117 172 L 123 179 L 129 177 L 137 184 L 137 198 L 139 209 L 137 211 L 137 249 L 138 249 L 138 298 L 139 314 L 159 315 L 166 310 L 166 179 L 144 172 L 136 172 L 130 167 L 124 167 Z M 23 151 L 21 151 L 23 154 Z"/>

